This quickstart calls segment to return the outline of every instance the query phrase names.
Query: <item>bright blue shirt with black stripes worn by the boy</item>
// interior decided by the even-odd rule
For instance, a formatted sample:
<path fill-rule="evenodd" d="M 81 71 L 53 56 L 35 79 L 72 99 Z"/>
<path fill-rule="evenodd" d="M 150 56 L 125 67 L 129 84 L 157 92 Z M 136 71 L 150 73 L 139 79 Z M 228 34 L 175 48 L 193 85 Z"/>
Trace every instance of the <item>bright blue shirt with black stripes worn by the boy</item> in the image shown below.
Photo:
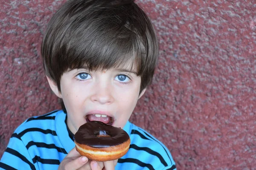
<path fill-rule="evenodd" d="M 67 153 L 75 147 L 65 123 L 66 113 L 53 111 L 23 122 L 9 141 L 0 160 L 0 170 L 57 170 Z M 145 130 L 127 122 L 130 136 L 128 152 L 115 169 L 176 170 L 169 150 Z"/>

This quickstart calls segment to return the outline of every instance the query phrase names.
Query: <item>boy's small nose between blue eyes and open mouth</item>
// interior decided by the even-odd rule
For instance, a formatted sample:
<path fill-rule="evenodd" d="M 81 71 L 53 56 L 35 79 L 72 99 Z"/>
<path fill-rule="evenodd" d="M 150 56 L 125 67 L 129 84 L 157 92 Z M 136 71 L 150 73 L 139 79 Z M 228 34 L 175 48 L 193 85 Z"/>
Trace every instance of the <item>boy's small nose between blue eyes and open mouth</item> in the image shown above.
<path fill-rule="evenodd" d="M 99 102 L 100 104 L 110 104 L 113 102 L 111 85 L 101 82 L 94 89 L 94 93 L 90 96 L 92 102 Z"/>

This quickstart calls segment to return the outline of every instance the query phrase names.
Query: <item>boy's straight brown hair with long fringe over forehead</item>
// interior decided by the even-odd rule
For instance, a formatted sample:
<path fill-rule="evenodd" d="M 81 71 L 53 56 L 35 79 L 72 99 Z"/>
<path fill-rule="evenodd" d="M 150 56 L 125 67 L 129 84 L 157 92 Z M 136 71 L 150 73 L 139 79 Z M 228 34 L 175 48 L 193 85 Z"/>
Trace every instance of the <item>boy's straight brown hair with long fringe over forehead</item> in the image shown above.
<path fill-rule="evenodd" d="M 154 28 L 134 0 L 68 0 L 53 15 L 41 47 L 46 75 L 58 86 L 68 69 L 109 69 L 133 61 L 140 92 L 157 65 Z"/>

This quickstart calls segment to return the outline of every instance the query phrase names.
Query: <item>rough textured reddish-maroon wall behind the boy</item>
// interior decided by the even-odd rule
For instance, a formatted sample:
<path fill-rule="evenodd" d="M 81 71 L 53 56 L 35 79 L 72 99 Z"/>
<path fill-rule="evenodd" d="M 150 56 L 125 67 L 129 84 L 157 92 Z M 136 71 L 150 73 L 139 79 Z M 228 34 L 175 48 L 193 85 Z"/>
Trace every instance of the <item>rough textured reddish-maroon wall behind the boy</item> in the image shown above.
<path fill-rule="evenodd" d="M 60 108 L 40 44 L 63 1 L 0 1 L 0 157 L 21 122 Z M 256 1 L 138 3 L 161 51 L 131 121 L 166 144 L 178 170 L 255 170 Z"/>

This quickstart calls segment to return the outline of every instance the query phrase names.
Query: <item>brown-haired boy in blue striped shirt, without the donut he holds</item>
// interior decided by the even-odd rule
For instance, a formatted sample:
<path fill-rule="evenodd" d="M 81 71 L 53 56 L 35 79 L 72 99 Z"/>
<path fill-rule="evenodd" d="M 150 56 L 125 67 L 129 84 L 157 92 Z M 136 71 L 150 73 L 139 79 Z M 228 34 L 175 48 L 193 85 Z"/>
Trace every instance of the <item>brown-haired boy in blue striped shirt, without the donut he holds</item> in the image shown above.
<path fill-rule="evenodd" d="M 62 110 L 23 122 L 0 169 L 176 169 L 161 142 L 128 122 L 151 82 L 158 55 L 154 29 L 132 0 L 68 0 L 48 24 L 41 54 Z M 125 156 L 96 162 L 79 155 L 73 136 L 93 120 L 129 134 Z"/>

